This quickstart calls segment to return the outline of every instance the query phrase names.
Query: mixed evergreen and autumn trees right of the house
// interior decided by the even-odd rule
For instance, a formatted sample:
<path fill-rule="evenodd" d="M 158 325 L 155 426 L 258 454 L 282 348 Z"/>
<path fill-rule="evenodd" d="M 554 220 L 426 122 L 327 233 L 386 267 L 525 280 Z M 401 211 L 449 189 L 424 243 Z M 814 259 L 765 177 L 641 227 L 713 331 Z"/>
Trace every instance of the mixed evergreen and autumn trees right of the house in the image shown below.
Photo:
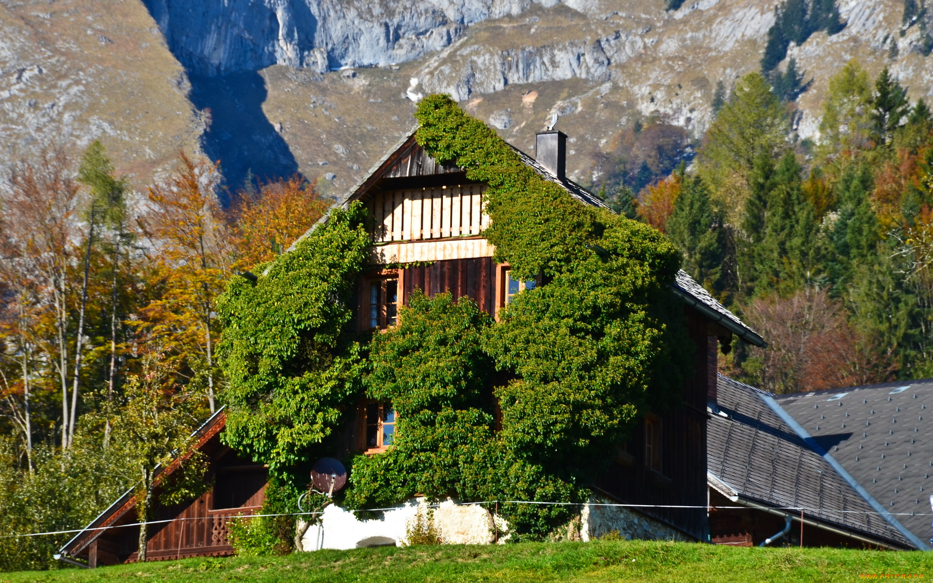
<path fill-rule="evenodd" d="M 933 376 L 933 135 L 887 69 L 829 82 L 820 140 L 769 79 L 739 80 L 695 163 L 613 203 L 771 342 L 724 372 L 777 393 Z"/>

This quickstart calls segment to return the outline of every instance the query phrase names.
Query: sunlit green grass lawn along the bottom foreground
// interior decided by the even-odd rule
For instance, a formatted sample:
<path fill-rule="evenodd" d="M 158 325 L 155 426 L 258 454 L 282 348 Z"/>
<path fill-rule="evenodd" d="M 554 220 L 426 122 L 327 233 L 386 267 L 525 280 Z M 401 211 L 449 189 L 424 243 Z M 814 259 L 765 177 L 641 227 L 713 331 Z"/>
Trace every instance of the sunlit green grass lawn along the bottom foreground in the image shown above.
<path fill-rule="evenodd" d="M 502 546 L 357 548 L 285 557 L 187 559 L 46 572 L 33 581 L 855 581 L 860 575 L 933 577 L 933 553 L 839 548 L 730 548 L 613 541 Z"/>

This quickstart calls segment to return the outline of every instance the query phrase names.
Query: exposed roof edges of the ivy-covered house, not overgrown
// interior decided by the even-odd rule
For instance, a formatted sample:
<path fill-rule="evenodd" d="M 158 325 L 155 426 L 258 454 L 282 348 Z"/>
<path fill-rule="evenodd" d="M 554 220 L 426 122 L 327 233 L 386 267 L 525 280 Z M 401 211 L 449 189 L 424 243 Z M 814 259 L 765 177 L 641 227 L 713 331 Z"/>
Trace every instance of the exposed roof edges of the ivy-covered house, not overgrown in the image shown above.
<path fill-rule="evenodd" d="M 377 186 L 380 180 L 385 178 L 426 176 L 430 174 L 466 174 L 463 168 L 458 168 L 453 164 L 441 164 L 428 156 L 424 148 L 419 146 L 415 140 L 417 129 L 418 126 L 412 128 L 407 136 L 399 140 L 395 146 L 392 146 L 383 158 L 369 169 L 369 172 L 365 174 L 363 178 L 353 187 L 350 187 L 340 199 L 330 206 L 327 213 L 322 216 L 311 229 L 305 231 L 304 234 L 295 240 L 295 243 L 292 243 L 291 246 L 288 247 L 288 251 L 292 251 L 295 245 L 310 235 L 318 225 L 327 222 L 327 218 L 334 209 L 349 208 L 351 202 L 365 197 L 372 187 Z M 522 162 L 534 170 L 536 174 L 545 180 L 560 185 L 574 199 L 590 206 L 605 209 L 609 208 L 606 201 L 603 201 L 573 180 L 558 178 L 554 174 L 550 174 L 550 172 L 538 163 L 534 157 L 522 152 L 522 150 L 515 146 L 510 144 L 508 146 L 515 150 Z M 768 343 L 765 342 L 755 330 L 746 326 L 734 313 L 730 312 L 725 306 L 719 303 L 716 298 L 713 298 L 713 296 L 703 289 L 703 285 L 694 281 L 686 271 L 681 270 L 677 272 L 675 282 L 671 287 L 674 289 L 675 294 L 683 298 L 690 306 L 702 312 L 703 315 L 713 321 L 725 326 L 731 332 L 738 335 L 739 338 L 762 348 L 768 346 Z"/>

